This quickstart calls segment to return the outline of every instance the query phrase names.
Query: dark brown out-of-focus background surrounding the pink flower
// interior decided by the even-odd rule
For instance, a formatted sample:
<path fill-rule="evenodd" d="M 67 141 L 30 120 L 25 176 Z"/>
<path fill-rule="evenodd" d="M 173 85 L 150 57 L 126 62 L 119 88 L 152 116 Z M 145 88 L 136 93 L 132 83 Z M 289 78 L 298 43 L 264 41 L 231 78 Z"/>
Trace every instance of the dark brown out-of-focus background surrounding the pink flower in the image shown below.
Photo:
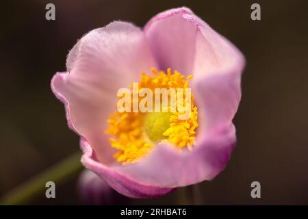
<path fill-rule="evenodd" d="M 55 21 L 45 5 L 55 4 Z M 261 21 L 251 20 L 251 4 Z M 199 186 L 203 204 L 308 204 L 308 1 L 5 1 L 0 9 L 0 196 L 79 150 L 64 107 L 51 92 L 56 71 L 86 32 L 111 21 L 143 27 L 169 8 L 191 8 L 247 60 L 227 168 Z M 80 204 L 78 177 L 57 198 L 33 204 Z M 261 198 L 251 198 L 251 182 Z M 135 204 L 177 204 L 177 192 Z"/>

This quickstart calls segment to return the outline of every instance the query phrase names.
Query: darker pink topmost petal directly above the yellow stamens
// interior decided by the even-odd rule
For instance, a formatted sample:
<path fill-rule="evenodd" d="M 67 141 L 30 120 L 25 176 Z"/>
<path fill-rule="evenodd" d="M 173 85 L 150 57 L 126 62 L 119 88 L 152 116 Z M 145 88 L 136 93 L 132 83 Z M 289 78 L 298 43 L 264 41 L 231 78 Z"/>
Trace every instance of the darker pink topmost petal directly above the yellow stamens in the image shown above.
<path fill-rule="evenodd" d="M 182 16 L 191 13 L 178 8 L 154 16 L 144 27 L 159 68 L 172 68 L 182 74 L 192 73 L 196 26 Z"/>

